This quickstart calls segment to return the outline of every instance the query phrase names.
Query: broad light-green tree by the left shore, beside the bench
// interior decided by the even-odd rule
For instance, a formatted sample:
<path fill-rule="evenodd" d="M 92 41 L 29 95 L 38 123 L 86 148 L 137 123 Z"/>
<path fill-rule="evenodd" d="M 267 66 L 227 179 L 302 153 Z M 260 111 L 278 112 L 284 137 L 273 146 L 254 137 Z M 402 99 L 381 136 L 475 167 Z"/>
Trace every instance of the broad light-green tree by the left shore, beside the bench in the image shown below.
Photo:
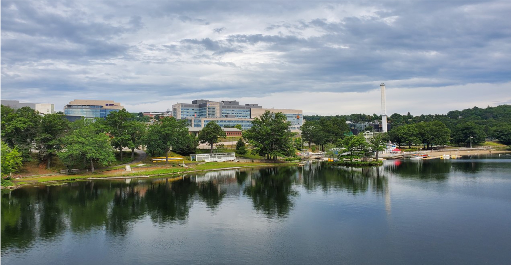
<path fill-rule="evenodd" d="M 91 120 L 77 120 L 72 128 L 76 128 L 60 141 L 63 151 L 58 152 L 59 158 L 69 164 L 78 165 L 87 161 L 91 163 L 91 171 L 94 172 L 94 163 L 106 165 L 116 160 L 112 150 L 110 138 L 103 132 L 99 132 L 99 125 Z"/>

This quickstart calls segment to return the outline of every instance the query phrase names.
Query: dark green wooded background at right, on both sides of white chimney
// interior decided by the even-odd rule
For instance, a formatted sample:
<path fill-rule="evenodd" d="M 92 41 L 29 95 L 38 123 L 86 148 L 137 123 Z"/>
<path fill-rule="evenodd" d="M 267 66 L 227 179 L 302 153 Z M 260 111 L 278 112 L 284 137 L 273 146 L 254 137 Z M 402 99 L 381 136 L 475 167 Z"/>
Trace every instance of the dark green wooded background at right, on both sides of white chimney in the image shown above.
<path fill-rule="evenodd" d="M 309 125 L 325 124 L 321 120 L 345 119 L 353 123 L 373 123 L 380 119 L 376 114 L 351 114 L 337 116 L 305 115 L 306 131 Z M 309 122 L 313 124 L 309 124 Z M 317 125 L 315 129 L 321 129 Z M 495 138 L 510 144 L 510 105 L 450 111 L 447 114 L 427 114 L 413 116 L 394 113 L 388 118 L 389 140 L 398 144 L 446 144 L 448 142 L 470 146 L 482 143 L 486 137 Z M 315 130 L 312 129 L 312 130 Z M 310 130 L 311 131 L 311 130 Z M 340 136 L 338 134 L 338 136 Z M 447 136 L 447 138 L 446 138 Z M 343 137 L 343 136 L 340 136 Z M 312 139 L 315 137 L 312 136 Z M 313 141 L 315 142 L 315 141 Z M 316 144 L 323 145 L 320 140 Z M 331 142 L 332 143 L 332 142 Z"/>

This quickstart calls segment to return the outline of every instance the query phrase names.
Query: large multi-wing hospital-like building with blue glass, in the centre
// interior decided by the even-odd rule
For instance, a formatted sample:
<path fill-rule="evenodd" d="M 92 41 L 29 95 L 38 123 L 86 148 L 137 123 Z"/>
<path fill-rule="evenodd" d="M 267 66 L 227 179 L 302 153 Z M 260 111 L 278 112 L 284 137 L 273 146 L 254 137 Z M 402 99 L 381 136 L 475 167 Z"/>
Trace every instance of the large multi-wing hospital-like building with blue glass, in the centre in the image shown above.
<path fill-rule="evenodd" d="M 290 129 L 299 129 L 302 126 L 302 110 L 265 109 L 258 104 L 240 105 L 237 101 L 195 100 L 192 104 L 174 104 L 173 116 L 176 119 L 186 119 L 188 127 L 202 128 L 215 120 L 221 127 L 241 125 L 243 129 L 249 129 L 252 127 L 252 120 L 260 117 L 266 110 L 285 114 L 291 122 Z"/>

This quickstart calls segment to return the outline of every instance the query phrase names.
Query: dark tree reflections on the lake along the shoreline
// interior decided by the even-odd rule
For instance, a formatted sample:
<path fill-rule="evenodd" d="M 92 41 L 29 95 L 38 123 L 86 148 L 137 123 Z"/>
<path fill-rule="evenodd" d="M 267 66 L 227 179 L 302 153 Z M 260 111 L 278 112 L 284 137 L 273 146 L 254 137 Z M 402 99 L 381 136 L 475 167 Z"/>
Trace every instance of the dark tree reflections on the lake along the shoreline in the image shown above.
<path fill-rule="evenodd" d="M 304 167 L 262 167 L 158 179 L 102 180 L 3 190 L 1 248 L 26 247 L 65 231 L 105 230 L 124 235 L 143 219 L 162 225 L 186 223 L 195 205 L 217 212 L 227 197 L 248 200 L 257 215 L 286 219 L 299 190 L 325 194 L 371 193 L 391 211 L 388 176 L 444 181 L 449 173 L 477 173 L 489 164 L 474 160 L 388 161 L 381 167 L 338 167 L 309 162 Z M 509 167 L 509 163 L 503 167 Z M 509 169 L 509 168 L 508 168 Z"/>

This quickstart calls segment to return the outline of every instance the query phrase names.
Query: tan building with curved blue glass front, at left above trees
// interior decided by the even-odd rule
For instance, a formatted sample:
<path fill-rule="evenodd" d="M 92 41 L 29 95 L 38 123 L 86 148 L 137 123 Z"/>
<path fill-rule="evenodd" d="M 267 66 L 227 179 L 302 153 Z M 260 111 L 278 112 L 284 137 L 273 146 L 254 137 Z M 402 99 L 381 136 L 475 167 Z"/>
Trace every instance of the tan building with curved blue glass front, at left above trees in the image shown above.
<path fill-rule="evenodd" d="M 74 100 L 64 106 L 64 114 L 81 115 L 84 118 L 105 118 L 112 111 L 124 107 L 120 103 L 105 100 Z"/>

